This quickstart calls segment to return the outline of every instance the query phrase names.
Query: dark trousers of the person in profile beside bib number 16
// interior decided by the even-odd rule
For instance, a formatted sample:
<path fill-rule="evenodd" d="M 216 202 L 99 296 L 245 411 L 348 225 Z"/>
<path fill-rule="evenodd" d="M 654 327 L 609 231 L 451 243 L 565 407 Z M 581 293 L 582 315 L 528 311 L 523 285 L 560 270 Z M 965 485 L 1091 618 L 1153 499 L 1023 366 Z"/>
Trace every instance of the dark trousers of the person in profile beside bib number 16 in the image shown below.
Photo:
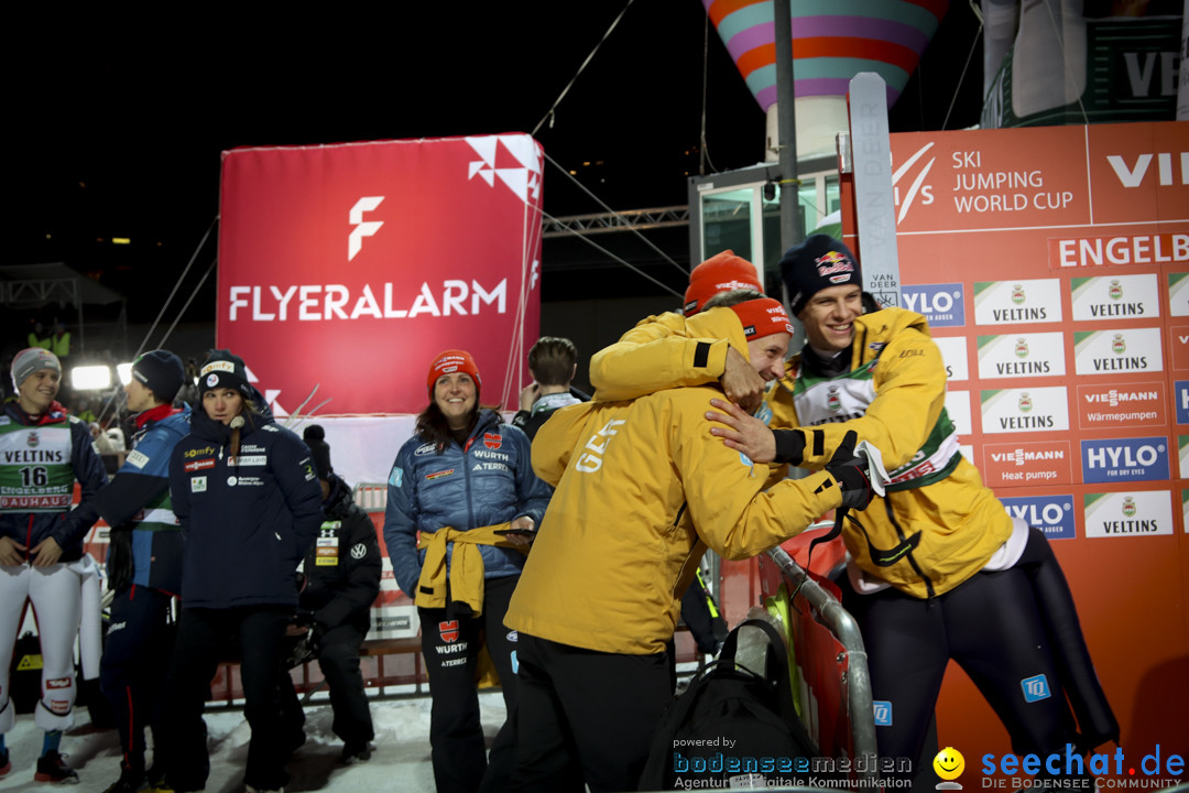
<path fill-rule="evenodd" d="M 100 662 L 100 687 L 112 703 L 124 766 L 143 772 L 145 728 L 163 739 L 161 701 L 174 652 L 169 594 L 127 586 L 112 600 L 112 618 Z"/>

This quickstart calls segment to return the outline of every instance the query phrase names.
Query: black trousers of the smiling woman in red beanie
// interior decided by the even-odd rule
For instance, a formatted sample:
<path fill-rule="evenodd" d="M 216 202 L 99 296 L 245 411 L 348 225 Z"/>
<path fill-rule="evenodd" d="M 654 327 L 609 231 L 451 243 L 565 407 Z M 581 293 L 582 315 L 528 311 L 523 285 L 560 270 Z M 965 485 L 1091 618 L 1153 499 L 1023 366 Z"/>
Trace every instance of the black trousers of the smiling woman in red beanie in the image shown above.
<path fill-rule="evenodd" d="M 421 653 L 433 703 L 429 745 L 438 793 L 505 791 L 516 763 L 516 631 L 504 627 L 518 575 L 487 579 L 479 617 L 460 617 L 452 608 L 417 609 Z M 508 719 L 491 744 L 490 760 L 479 720 L 476 686 L 479 648 L 499 673 Z"/>

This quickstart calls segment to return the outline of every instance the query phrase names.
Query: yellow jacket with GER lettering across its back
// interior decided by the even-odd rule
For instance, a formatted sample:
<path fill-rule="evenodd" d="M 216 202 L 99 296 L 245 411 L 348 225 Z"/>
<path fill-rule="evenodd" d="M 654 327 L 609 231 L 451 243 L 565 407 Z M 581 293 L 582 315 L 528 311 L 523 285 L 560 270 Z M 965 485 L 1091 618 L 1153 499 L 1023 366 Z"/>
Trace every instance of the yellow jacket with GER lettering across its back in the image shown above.
<path fill-rule="evenodd" d="M 712 319 L 716 338 L 746 357 L 735 313 Z M 533 468 L 558 490 L 508 627 L 604 653 L 660 653 L 707 546 L 728 559 L 754 556 L 841 504 L 826 472 L 765 490 L 768 467 L 710 434 L 704 414 L 716 396 L 668 389 L 571 405 L 545 422 Z"/>

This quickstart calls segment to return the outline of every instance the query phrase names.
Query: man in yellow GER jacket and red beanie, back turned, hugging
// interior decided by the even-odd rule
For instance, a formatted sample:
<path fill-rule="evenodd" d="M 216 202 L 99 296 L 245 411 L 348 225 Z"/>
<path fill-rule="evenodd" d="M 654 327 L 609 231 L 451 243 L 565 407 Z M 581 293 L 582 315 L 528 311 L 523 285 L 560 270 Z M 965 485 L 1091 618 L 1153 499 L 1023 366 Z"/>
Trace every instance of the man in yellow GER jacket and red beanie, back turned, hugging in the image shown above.
<path fill-rule="evenodd" d="M 688 327 L 706 340 L 696 355 L 729 346 L 765 379 L 784 375 L 792 326 L 779 302 L 715 308 Z M 746 559 L 870 501 L 867 460 L 850 449 L 768 487 L 768 466 L 710 434 L 716 396 L 691 386 L 589 402 L 539 430 L 533 468 L 558 490 L 505 618 L 520 636 L 512 789 L 635 789 L 671 698 L 666 643 L 706 547 Z"/>

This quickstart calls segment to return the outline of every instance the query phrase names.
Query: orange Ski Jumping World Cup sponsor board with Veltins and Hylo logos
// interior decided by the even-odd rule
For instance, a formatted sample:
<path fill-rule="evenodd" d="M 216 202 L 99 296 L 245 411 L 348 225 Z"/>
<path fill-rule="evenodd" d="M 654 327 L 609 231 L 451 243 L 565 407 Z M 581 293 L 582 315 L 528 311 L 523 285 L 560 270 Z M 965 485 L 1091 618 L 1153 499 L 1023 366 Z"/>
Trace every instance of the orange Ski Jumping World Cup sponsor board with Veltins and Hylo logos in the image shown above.
<path fill-rule="evenodd" d="M 902 304 L 970 395 L 961 442 L 1052 541 L 1127 756 L 1184 754 L 1189 124 L 894 134 L 892 159 Z M 1011 750 L 956 666 L 938 739 Z"/>

